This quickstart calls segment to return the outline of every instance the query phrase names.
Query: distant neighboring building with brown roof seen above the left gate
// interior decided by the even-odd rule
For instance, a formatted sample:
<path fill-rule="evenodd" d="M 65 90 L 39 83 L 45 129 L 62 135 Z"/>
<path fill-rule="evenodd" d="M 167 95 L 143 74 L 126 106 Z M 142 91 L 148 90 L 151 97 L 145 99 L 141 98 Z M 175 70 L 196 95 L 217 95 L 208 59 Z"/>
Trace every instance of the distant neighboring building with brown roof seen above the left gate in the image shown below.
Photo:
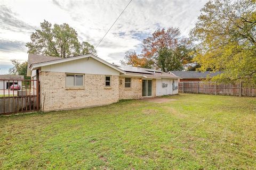
<path fill-rule="evenodd" d="M 0 90 L 8 89 L 12 84 L 19 84 L 21 86 L 23 75 L 0 75 Z"/>

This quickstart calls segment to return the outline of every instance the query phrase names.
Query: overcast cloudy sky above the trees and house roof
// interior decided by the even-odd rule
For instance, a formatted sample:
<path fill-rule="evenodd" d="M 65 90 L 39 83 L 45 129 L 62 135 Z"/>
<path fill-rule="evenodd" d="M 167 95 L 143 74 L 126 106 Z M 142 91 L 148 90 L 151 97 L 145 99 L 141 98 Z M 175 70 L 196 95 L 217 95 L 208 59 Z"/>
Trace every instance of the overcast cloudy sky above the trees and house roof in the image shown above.
<path fill-rule="evenodd" d="M 0 74 L 6 74 L 11 59 L 27 60 L 25 44 L 40 22 L 68 23 L 80 41 L 96 46 L 130 0 L 0 1 Z M 206 2 L 133 0 L 97 48 L 98 56 L 119 63 L 127 50 L 140 52 L 141 41 L 158 28 L 179 27 L 187 37 Z"/>

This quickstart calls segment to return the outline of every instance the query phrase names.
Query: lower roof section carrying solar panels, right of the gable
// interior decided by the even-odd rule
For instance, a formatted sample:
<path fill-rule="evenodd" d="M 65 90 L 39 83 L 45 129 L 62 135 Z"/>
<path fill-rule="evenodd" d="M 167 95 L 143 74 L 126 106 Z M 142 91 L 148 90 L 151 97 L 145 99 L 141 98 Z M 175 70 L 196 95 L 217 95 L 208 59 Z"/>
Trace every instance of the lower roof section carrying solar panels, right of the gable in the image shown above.
<path fill-rule="evenodd" d="M 127 74 L 130 75 L 142 75 L 142 77 L 145 78 L 176 78 L 179 77 L 174 74 L 165 73 L 159 70 L 154 69 L 146 69 L 141 67 L 133 67 L 133 66 L 121 66 L 121 65 L 115 65 L 125 71 Z"/>

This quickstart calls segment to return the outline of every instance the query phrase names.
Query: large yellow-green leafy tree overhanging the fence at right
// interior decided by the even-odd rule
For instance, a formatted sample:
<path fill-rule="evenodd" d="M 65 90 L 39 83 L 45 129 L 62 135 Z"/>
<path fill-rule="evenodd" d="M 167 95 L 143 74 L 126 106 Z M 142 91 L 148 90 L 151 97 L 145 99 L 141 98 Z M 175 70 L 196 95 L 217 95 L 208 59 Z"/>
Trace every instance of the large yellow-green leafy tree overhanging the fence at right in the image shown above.
<path fill-rule="evenodd" d="M 198 70 L 223 71 L 216 81 L 256 83 L 255 1 L 209 1 L 201 12 L 190 33 L 199 42 Z"/>

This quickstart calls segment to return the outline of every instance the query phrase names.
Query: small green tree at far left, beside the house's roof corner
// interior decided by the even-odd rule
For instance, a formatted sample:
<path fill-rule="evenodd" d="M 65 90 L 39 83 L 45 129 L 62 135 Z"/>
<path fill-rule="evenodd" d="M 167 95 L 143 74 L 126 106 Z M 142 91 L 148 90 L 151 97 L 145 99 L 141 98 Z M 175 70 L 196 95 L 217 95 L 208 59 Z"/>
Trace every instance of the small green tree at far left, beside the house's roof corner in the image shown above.
<path fill-rule="evenodd" d="M 9 74 L 24 75 L 25 79 L 30 79 L 30 77 L 27 77 L 27 69 L 28 69 L 27 61 L 20 63 L 18 60 L 11 60 L 11 62 L 14 66 L 11 69 L 9 69 Z"/>

